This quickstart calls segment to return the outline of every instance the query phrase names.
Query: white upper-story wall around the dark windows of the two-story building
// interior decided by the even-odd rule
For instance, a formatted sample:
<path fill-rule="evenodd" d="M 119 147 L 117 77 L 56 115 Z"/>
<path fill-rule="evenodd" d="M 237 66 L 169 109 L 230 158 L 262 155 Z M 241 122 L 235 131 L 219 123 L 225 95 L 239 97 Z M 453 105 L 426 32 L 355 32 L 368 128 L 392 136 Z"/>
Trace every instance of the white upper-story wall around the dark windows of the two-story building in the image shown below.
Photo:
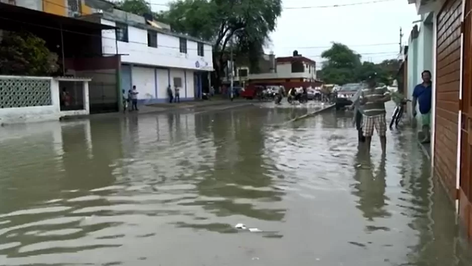
<path fill-rule="evenodd" d="M 102 24 L 115 26 L 115 22 L 102 19 Z M 187 40 L 187 53 L 180 52 L 179 38 L 158 33 L 158 47 L 147 46 L 147 30 L 128 26 L 128 42 L 118 42 L 118 53 L 124 63 L 163 66 L 169 68 L 212 71 L 212 47 L 204 44 L 204 56 L 198 56 L 197 43 Z M 115 54 L 114 30 L 102 31 L 103 53 Z M 198 61 L 198 67 L 197 67 Z"/>

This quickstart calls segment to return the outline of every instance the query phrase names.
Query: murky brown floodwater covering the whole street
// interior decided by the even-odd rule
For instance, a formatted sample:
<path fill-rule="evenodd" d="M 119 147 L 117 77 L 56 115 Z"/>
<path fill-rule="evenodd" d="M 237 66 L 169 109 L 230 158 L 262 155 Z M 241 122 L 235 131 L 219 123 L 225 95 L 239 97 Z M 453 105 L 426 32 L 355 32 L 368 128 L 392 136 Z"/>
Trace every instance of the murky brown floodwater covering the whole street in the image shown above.
<path fill-rule="evenodd" d="M 0 127 L 0 265 L 472 265 L 409 129 L 307 111 Z"/>

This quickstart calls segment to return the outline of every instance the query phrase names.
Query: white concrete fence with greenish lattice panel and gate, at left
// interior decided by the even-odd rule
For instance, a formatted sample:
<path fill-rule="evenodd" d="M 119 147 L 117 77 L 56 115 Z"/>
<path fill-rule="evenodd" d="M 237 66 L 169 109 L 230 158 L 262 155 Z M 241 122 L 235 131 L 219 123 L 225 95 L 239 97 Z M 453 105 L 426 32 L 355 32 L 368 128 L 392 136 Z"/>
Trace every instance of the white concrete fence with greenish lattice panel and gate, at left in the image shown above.
<path fill-rule="evenodd" d="M 89 81 L 91 79 L 0 76 L 0 124 L 89 114 Z M 69 104 L 64 106 L 61 101 L 61 95 L 65 94 L 75 103 L 73 108 Z"/>

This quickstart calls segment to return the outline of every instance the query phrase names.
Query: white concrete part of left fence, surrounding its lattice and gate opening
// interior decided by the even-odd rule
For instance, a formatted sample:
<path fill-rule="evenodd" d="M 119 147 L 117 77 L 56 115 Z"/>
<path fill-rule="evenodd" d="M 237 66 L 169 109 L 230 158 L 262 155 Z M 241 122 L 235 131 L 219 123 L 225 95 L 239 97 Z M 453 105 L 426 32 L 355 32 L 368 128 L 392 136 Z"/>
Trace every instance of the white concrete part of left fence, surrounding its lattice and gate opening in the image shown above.
<path fill-rule="evenodd" d="M 58 120 L 65 115 L 84 115 L 89 114 L 88 101 L 88 82 L 84 82 L 83 95 L 84 110 L 61 111 L 59 80 L 51 77 L 23 77 L 23 76 L 0 76 L 0 80 L 22 81 L 22 80 L 46 80 L 50 83 L 51 102 L 49 105 L 0 108 L 0 124 L 13 124 L 25 122 L 41 122 L 49 120 Z"/>

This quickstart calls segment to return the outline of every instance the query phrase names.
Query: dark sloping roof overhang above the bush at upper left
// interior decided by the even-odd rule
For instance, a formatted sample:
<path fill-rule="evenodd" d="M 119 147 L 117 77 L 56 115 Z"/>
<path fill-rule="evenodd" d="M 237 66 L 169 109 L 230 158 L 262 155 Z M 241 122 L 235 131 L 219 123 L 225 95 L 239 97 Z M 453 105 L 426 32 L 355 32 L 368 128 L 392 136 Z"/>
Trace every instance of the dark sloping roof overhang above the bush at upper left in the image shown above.
<path fill-rule="evenodd" d="M 0 3 L 0 23 L 39 24 L 44 28 L 50 29 L 58 29 L 59 27 L 80 27 L 95 30 L 111 30 L 116 28 L 113 26 L 102 25 L 100 23 L 54 15 L 5 3 Z"/>

